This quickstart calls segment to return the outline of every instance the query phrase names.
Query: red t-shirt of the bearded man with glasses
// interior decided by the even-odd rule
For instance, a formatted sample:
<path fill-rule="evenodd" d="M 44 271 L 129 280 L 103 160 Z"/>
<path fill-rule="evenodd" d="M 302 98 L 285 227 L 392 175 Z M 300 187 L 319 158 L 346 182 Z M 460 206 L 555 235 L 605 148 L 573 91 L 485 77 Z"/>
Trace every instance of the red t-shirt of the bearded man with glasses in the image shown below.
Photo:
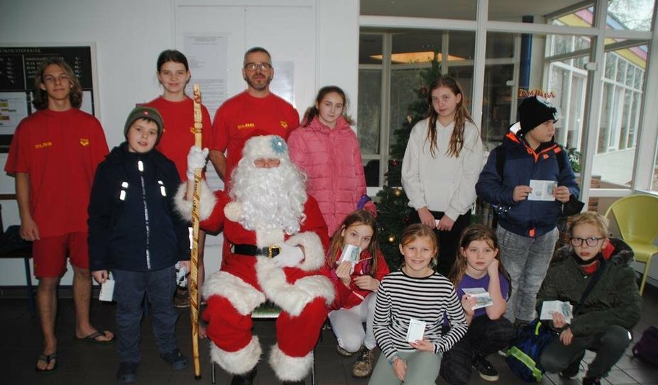
<path fill-rule="evenodd" d="M 226 178 L 242 157 L 242 147 L 254 131 L 279 135 L 287 140 L 290 131 L 300 125 L 297 110 L 275 94 L 264 98 L 251 96 L 247 91 L 224 101 L 212 121 L 214 140 L 211 150 L 226 150 Z"/>

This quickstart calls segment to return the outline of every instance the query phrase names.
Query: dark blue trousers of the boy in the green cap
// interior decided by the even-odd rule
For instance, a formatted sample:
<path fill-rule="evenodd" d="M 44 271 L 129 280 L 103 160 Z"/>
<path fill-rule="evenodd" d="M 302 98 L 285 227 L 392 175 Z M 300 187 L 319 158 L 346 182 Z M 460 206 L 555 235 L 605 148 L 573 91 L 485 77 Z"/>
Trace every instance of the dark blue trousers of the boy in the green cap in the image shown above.
<path fill-rule="evenodd" d="M 139 362 L 142 306 L 144 296 L 151 304 L 153 334 L 160 353 L 168 353 L 177 347 L 176 321 L 173 296 L 176 290 L 176 269 L 167 267 L 154 272 L 127 272 L 112 270 L 114 277 L 114 301 L 116 301 L 116 325 L 119 332 L 119 358 L 121 362 Z"/>

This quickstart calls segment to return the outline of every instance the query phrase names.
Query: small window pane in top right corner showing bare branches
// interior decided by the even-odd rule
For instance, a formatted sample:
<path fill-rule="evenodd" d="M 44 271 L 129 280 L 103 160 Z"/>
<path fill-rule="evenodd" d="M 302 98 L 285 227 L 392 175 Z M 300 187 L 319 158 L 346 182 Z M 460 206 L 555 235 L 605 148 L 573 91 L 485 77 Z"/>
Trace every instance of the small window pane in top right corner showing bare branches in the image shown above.
<path fill-rule="evenodd" d="M 608 28 L 650 30 L 654 0 L 608 1 Z"/>

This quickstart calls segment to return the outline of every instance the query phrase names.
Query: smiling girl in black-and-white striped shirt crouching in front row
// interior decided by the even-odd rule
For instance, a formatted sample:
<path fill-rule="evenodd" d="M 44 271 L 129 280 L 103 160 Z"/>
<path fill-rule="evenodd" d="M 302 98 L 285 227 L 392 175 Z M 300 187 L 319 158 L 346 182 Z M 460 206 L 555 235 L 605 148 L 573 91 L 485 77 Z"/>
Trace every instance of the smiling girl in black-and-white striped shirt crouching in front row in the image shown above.
<path fill-rule="evenodd" d="M 375 339 L 382 350 L 368 384 L 434 384 L 441 357 L 468 326 L 454 286 L 434 272 L 437 255 L 434 231 L 410 225 L 400 240 L 402 268 L 381 281 L 375 303 Z M 450 330 L 442 333 L 444 314 Z M 410 322 L 424 322 L 422 339 L 407 341 Z"/>

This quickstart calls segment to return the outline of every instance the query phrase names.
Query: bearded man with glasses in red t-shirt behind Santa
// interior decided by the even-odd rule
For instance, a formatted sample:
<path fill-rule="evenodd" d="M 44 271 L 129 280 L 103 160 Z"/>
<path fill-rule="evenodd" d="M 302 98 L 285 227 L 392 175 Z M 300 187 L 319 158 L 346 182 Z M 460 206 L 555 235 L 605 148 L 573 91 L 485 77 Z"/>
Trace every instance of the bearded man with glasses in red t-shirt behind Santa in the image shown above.
<path fill-rule="evenodd" d="M 274 68 L 268 50 L 254 47 L 245 52 L 242 77 L 247 83 L 246 91 L 224 101 L 212 122 L 210 160 L 224 184 L 231 179 L 244 143 L 254 133 L 279 135 L 287 140 L 290 131 L 300 124 L 297 110 L 270 92 Z"/>

